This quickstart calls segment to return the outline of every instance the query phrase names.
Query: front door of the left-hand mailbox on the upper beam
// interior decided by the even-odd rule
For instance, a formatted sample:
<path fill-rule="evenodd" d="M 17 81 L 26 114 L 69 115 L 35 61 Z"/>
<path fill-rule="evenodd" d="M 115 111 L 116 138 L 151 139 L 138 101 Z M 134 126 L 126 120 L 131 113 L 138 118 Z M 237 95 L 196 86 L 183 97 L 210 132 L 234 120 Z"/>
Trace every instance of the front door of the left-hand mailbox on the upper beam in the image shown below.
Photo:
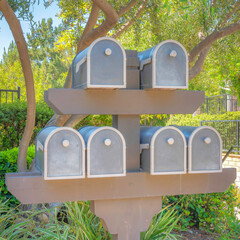
<path fill-rule="evenodd" d="M 101 39 L 89 50 L 88 85 L 96 88 L 124 88 L 126 87 L 125 50 L 116 40 Z"/>

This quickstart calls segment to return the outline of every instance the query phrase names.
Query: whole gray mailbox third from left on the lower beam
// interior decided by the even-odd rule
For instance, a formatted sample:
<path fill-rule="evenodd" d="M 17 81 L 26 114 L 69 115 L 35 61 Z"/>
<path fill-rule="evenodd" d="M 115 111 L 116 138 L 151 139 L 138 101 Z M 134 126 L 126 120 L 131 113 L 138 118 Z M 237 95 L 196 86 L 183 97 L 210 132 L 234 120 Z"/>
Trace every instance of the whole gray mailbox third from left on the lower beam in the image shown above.
<path fill-rule="evenodd" d="M 141 127 L 141 167 L 151 175 L 184 174 L 187 145 L 182 132 L 173 127 Z"/>

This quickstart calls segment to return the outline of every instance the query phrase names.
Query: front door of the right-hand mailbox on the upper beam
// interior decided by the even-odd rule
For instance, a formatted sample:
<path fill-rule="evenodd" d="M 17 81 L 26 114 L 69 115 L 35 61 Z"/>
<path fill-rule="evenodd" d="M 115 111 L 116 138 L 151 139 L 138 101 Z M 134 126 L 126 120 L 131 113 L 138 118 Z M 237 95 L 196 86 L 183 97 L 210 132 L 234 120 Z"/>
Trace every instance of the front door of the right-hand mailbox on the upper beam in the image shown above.
<path fill-rule="evenodd" d="M 175 51 L 176 56 L 170 56 Z M 153 55 L 153 87 L 187 88 L 188 59 L 186 50 L 175 41 L 160 44 Z"/>

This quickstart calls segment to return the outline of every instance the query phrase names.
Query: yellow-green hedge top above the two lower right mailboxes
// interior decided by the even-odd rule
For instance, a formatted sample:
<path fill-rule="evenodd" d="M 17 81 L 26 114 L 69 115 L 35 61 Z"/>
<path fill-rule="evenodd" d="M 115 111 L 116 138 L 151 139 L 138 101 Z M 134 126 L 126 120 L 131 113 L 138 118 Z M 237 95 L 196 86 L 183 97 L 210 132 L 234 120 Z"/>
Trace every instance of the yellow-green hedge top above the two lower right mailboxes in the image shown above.
<path fill-rule="evenodd" d="M 192 114 L 175 114 L 167 122 L 167 125 L 179 126 L 200 126 L 200 122 L 204 120 L 239 120 L 240 112 L 227 112 L 224 114 L 200 114 L 193 116 Z"/>

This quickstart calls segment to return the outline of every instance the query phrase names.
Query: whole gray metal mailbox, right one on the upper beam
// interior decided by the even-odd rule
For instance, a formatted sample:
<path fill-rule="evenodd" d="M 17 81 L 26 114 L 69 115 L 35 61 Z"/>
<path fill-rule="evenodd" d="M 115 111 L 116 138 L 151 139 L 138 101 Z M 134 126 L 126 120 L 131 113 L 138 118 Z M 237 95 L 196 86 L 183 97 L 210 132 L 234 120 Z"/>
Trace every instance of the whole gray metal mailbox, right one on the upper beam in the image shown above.
<path fill-rule="evenodd" d="M 178 42 L 167 40 L 138 54 L 141 88 L 188 88 L 188 55 Z"/>

